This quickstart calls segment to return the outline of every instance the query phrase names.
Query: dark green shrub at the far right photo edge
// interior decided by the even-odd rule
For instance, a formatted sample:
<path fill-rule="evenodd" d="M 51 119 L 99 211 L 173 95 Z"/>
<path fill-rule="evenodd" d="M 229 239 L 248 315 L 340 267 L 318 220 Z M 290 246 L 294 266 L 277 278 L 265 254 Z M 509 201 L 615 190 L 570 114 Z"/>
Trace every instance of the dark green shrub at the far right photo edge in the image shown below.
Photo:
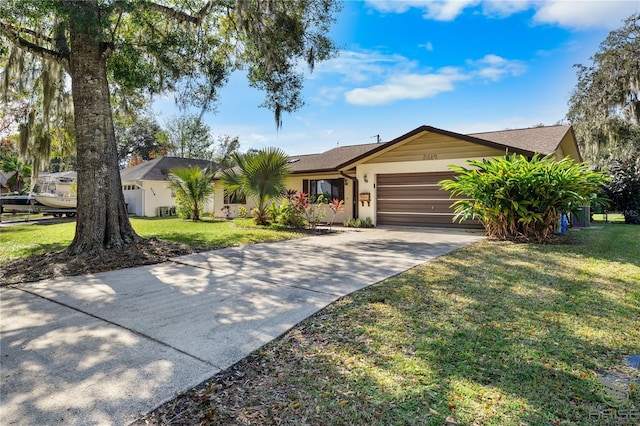
<path fill-rule="evenodd" d="M 612 207 L 624 215 L 625 223 L 640 224 L 640 156 L 613 161 L 609 175 L 604 188 Z"/>

